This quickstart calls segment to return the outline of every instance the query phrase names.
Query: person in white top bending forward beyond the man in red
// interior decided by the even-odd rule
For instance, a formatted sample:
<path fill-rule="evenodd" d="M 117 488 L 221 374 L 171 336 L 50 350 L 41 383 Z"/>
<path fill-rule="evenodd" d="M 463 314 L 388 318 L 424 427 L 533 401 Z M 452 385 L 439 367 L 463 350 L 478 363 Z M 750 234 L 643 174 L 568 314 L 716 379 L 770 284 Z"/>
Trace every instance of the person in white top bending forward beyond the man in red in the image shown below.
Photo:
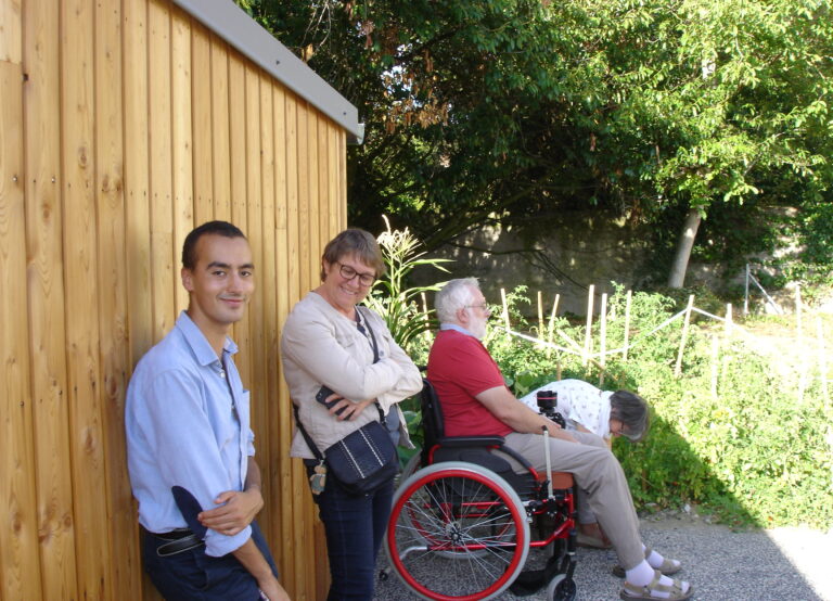
<path fill-rule="evenodd" d="M 550 382 L 521 398 L 538 411 L 538 393 L 549 391 L 558 394 L 555 411 L 567 421 L 567 430 L 592 432 L 601 436 L 610 447 L 613 438 L 625 436 L 631 442 L 641 440 L 650 422 L 645 400 L 628 391 L 605 392 L 581 380 Z M 610 549 L 611 541 L 604 536 L 595 515 L 578 498 L 578 545 L 595 549 Z"/>

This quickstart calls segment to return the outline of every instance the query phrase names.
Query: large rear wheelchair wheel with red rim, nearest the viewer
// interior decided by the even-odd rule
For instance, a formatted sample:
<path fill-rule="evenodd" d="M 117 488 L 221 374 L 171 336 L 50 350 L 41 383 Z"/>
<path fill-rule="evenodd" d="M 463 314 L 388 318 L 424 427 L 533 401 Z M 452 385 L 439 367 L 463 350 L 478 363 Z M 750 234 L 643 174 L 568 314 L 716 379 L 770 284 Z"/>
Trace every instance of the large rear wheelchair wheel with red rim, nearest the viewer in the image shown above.
<path fill-rule="evenodd" d="M 529 524 L 520 497 L 495 472 L 441 462 L 397 490 L 385 551 L 402 583 L 423 599 L 491 599 L 523 570 Z"/>

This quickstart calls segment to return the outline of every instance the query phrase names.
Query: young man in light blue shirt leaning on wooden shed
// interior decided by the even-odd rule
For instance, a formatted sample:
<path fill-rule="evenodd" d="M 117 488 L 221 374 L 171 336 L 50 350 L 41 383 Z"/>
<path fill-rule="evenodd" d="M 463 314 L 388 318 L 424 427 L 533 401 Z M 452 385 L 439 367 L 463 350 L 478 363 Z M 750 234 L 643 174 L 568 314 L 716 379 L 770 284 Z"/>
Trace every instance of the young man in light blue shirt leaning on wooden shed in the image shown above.
<path fill-rule="evenodd" d="M 254 521 L 264 506 L 260 471 L 228 337 L 255 287 L 243 232 L 210 221 L 189 233 L 182 285 L 188 310 L 142 357 L 127 391 L 144 567 L 168 600 L 287 600 Z"/>

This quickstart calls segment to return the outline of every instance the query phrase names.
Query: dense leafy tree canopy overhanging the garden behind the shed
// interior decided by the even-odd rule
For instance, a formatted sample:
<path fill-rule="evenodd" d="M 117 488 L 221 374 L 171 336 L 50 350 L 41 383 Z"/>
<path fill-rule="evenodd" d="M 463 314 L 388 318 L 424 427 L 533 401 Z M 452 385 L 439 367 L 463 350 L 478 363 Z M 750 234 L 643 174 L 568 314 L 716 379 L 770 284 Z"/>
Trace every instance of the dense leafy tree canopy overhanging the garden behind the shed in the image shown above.
<path fill-rule="evenodd" d="M 830 199 L 830 0 L 239 3 L 359 107 L 371 230 Z"/>

